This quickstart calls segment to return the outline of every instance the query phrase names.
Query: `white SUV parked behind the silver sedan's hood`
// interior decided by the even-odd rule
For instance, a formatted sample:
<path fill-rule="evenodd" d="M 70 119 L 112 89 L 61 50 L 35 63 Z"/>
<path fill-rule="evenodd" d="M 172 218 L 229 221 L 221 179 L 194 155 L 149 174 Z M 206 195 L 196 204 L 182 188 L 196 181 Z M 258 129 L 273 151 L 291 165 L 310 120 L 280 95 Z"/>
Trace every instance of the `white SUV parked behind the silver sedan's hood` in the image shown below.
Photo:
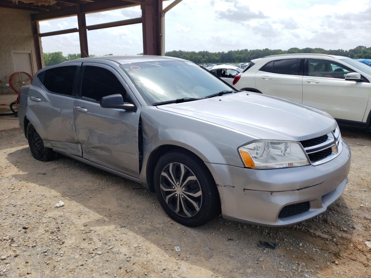
<path fill-rule="evenodd" d="M 339 123 L 370 126 L 371 67 L 325 54 L 272 55 L 251 61 L 236 89 L 319 107 Z"/>

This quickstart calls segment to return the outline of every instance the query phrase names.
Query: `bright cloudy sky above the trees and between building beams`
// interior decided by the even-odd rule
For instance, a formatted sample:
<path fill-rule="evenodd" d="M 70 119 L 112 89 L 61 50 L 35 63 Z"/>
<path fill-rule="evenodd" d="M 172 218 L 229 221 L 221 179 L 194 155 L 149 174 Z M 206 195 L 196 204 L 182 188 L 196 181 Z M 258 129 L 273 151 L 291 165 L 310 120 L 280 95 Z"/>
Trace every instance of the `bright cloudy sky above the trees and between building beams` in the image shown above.
<path fill-rule="evenodd" d="M 164 7 L 171 1 L 164 1 Z M 86 14 L 86 24 L 141 16 L 140 7 Z M 40 21 L 40 32 L 75 28 L 76 16 Z M 165 16 L 165 50 L 371 46 L 371 0 L 183 0 Z M 80 53 L 78 33 L 42 37 L 44 52 Z M 88 31 L 89 54 L 143 52 L 142 26 Z"/>

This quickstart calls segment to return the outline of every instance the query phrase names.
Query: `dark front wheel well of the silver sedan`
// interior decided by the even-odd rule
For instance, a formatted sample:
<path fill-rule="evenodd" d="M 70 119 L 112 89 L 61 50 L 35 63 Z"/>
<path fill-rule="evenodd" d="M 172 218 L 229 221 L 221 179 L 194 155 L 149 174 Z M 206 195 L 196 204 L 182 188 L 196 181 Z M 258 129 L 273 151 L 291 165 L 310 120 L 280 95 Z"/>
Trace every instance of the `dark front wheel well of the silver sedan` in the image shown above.
<path fill-rule="evenodd" d="M 154 171 L 155 171 L 157 161 L 161 158 L 161 156 L 163 156 L 167 152 L 170 152 L 171 150 L 180 150 L 180 151 L 183 151 L 183 152 L 187 152 L 190 155 L 199 159 L 200 162 L 203 163 L 203 160 L 199 156 L 197 156 L 195 153 L 191 152 L 188 149 L 182 148 L 180 146 L 162 145 L 162 146 L 158 147 L 157 149 L 152 151 L 152 153 L 150 154 L 150 157 L 148 158 L 148 163 L 147 163 L 147 183 L 148 183 L 148 189 L 151 192 L 155 191 L 154 184 L 153 184 L 153 175 L 154 175 Z M 207 169 L 207 167 L 206 167 L 206 169 Z M 209 169 L 207 169 L 207 171 L 209 171 Z M 209 173 L 210 173 L 210 171 L 209 171 Z M 210 175 L 211 175 L 211 173 L 210 173 Z M 213 175 L 211 175 L 211 177 L 213 177 Z M 213 179 L 214 179 L 214 177 L 213 177 Z"/>

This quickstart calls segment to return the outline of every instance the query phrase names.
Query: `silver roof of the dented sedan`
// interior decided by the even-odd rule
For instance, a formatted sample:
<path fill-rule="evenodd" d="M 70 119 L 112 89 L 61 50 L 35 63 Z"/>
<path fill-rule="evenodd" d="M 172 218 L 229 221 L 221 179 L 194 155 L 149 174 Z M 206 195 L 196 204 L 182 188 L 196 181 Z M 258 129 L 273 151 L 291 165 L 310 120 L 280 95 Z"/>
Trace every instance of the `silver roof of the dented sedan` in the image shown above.
<path fill-rule="evenodd" d="M 155 62 L 155 61 L 187 61 L 180 58 L 168 57 L 168 56 L 155 56 L 155 55 L 125 55 L 125 56 L 95 56 L 86 57 L 75 60 L 69 60 L 63 63 L 73 63 L 73 62 L 99 62 L 99 60 L 110 60 L 118 64 L 130 64 L 130 63 L 140 63 L 140 62 Z"/>

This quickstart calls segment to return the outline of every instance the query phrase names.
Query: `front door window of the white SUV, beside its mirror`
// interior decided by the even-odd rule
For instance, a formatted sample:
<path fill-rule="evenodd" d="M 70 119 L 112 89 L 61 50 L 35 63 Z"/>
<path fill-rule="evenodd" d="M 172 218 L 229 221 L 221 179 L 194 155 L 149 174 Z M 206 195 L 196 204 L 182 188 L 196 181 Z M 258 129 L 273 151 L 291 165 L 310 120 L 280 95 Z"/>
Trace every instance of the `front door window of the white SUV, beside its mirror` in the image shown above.
<path fill-rule="evenodd" d="M 332 61 L 309 59 L 309 76 L 345 79 L 349 72 L 348 68 Z"/>

